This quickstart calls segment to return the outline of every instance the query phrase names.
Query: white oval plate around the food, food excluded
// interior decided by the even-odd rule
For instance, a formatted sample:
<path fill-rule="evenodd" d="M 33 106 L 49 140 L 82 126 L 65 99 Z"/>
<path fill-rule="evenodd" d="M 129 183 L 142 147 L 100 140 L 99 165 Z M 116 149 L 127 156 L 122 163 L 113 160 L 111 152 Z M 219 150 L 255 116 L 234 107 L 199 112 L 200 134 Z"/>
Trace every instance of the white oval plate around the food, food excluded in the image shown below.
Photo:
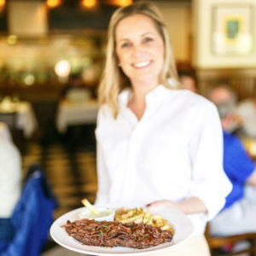
<path fill-rule="evenodd" d="M 68 236 L 67 232 L 61 225 L 66 224 L 67 220 L 74 221 L 78 219 L 78 214 L 84 207 L 67 212 L 60 218 L 57 218 L 50 228 L 50 236 L 60 244 L 62 247 L 66 247 L 77 253 L 84 253 L 90 255 L 143 255 L 148 253 L 156 253 L 170 247 L 177 247 L 186 241 L 194 230 L 194 226 L 190 219 L 183 213 L 177 212 L 171 209 L 161 209 L 158 211 L 151 211 L 154 214 L 160 214 L 163 218 L 166 218 L 175 229 L 175 235 L 171 242 L 166 242 L 156 247 L 148 247 L 146 249 L 134 249 L 129 247 L 94 247 L 86 246 L 81 242 L 75 240 L 72 236 Z"/>

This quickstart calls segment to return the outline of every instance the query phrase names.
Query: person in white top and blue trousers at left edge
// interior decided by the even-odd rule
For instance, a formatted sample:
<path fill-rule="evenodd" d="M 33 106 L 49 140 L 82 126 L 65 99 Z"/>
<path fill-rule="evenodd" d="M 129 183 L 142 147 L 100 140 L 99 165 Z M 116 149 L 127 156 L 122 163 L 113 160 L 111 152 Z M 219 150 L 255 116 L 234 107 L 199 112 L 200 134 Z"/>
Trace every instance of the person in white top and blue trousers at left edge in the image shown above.
<path fill-rule="evenodd" d="M 11 214 L 21 193 L 20 152 L 15 145 L 0 137 L 0 243 L 14 236 Z"/>

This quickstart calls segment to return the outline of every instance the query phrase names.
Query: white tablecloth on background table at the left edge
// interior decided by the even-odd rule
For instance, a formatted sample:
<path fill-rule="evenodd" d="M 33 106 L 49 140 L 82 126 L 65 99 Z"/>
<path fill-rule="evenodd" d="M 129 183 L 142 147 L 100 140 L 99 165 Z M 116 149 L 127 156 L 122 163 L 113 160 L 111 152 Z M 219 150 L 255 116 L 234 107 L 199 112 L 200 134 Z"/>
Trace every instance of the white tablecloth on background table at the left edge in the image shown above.
<path fill-rule="evenodd" d="M 16 112 L 16 126 L 22 130 L 25 137 L 31 137 L 32 133 L 38 128 L 38 122 L 30 102 L 7 102 L 0 104 L 0 112 Z"/>

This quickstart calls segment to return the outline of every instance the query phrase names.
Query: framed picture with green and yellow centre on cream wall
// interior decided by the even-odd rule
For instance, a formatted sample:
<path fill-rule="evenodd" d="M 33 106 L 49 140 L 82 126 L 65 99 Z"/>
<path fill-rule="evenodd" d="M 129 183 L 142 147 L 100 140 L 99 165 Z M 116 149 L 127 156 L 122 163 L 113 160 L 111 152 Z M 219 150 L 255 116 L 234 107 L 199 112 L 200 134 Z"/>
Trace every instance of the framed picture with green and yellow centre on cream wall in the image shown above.
<path fill-rule="evenodd" d="M 212 5 L 211 49 L 213 55 L 246 56 L 255 44 L 253 5 Z"/>

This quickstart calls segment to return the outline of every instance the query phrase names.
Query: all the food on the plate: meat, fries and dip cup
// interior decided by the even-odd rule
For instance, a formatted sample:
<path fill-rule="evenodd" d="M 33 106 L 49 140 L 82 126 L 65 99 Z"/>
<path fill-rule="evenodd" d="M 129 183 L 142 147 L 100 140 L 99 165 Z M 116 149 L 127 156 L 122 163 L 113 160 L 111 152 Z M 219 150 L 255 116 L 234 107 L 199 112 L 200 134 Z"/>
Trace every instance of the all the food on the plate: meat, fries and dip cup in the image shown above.
<path fill-rule="evenodd" d="M 85 245 L 142 249 L 172 241 L 174 230 L 160 215 L 144 212 L 143 208 L 120 208 L 114 212 L 93 207 L 86 199 L 82 203 L 86 208 L 79 212 L 80 219 L 68 220 L 63 227 L 69 236 Z"/>

